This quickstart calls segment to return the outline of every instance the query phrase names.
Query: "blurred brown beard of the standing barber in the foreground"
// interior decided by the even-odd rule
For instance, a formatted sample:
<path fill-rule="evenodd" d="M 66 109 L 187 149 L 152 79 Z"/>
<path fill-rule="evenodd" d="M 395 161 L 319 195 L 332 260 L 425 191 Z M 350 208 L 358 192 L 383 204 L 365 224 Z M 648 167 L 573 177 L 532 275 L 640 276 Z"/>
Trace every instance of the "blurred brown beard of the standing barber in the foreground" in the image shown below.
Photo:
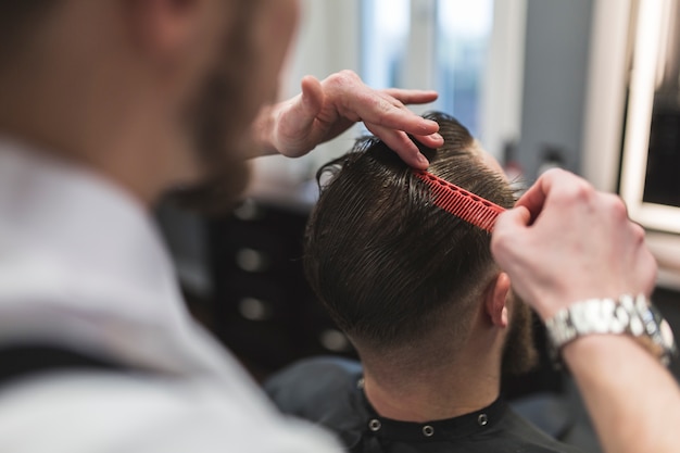
<path fill-rule="evenodd" d="M 166 199 L 204 214 L 223 214 L 234 206 L 248 186 L 245 155 L 254 147 L 250 127 L 261 103 L 253 73 L 259 62 L 252 34 L 257 0 L 235 2 L 236 10 L 219 63 L 207 74 L 196 102 L 186 110 L 196 159 L 204 177 L 171 190 Z"/>

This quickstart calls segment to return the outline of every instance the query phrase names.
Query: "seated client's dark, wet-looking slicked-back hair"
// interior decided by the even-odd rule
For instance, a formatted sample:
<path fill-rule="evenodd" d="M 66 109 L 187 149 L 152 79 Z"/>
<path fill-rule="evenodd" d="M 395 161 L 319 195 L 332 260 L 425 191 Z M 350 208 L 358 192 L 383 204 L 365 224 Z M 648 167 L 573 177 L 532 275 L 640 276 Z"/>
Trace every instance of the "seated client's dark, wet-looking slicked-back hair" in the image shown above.
<path fill-rule="evenodd" d="M 509 184 L 487 166 L 470 133 L 443 113 L 424 117 L 444 138 L 436 151 L 419 146 L 429 172 L 512 207 Z M 307 223 L 304 265 L 338 326 L 355 343 L 390 348 L 423 338 L 452 307 L 469 320 L 473 293 L 495 269 L 490 235 L 437 207 L 428 187 L 375 137 L 323 166 L 319 187 L 328 172 Z"/>

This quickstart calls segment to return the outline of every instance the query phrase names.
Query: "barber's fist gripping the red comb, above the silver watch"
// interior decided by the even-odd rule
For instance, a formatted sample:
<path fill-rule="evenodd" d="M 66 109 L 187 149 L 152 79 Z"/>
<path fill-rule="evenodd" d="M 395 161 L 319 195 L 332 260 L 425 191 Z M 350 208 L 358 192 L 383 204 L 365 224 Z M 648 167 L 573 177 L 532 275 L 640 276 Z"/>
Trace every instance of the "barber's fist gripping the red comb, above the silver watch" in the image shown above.
<path fill-rule="evenodd" d="M 656 262 L 616 196 L 562 169 L 546 172 L 499 217 L 491 249 L 542 318 L 589 298 L 651 294 Z"/>

